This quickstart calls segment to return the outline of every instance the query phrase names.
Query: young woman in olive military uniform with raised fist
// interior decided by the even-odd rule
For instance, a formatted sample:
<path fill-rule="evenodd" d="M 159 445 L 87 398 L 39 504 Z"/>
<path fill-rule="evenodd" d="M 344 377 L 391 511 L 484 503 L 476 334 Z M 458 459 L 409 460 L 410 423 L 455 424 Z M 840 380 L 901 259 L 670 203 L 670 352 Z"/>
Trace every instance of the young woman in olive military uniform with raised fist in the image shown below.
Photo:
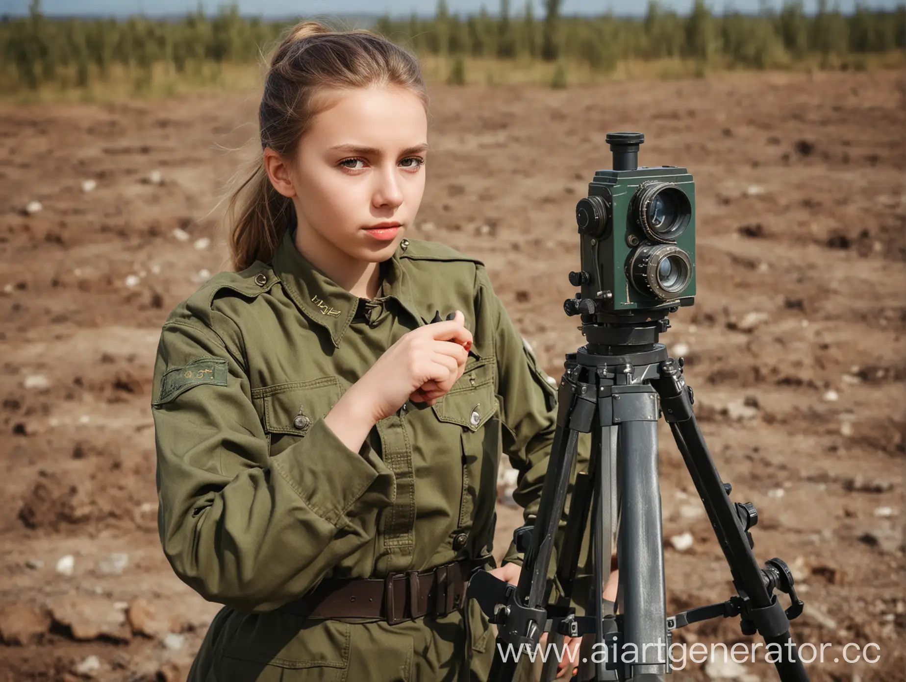
<path fill-rule="evenodd" d="M 170 313 L 154 372 L 163 549 L 225 605 L 189 680 L 487 679 L 466 581 L 518 580 L 515 548 L 491 555 L 497 466 L 534 513 L 554 388 L 484 265 L 406 237 L 428 149 L 409 53 L 299 24 L 259 122 L 236 272 Z"/>

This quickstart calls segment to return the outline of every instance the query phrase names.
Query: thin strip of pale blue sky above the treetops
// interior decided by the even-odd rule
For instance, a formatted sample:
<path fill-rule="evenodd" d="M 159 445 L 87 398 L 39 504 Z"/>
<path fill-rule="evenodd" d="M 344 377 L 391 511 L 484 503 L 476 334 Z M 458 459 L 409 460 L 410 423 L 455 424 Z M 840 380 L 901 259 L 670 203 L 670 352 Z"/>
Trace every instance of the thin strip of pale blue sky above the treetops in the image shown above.
<path fill-rule="evenodd" d="M 496 12 L 499 0 L 448 0 L 451 11 L 459 14 L 477 12 L 484 2 L 488 11 Z M 851 12 L 856 0 L 837 0 L 843 12 Z M 901 3 L 902 0 L 899 0 Z M 215 12 L 219 0 L 206 0 L 202 5 Z M 614 14 L 643 14 L 645 0 L 564 0 L 564 14 L 602 14 L 611 8 Z M 742 12 L 756 12 L 758 0 L 709 0 L 708 5 L 717 12 L 733 8 Z M 197 0 L 43 0 L 45 14 L 185 14 L 197 6 Z M 243 14 L 260 16 L 290 16 L 311 14 L 434 14 L 436 0 L 239 0 Z M 521 13 L 525 0 L 512 0 L 514 13 Z M 534 0 L 535 12 L 542 12 L 542 1 Z M 680 13 L 689 11 L 692 0 L 661 0 L 661 5 L 672 7 Z M 781 0 L 768 0 L 768 5 L 779 7 Z M 817 0 L 805 0 L 806 11 L 814 11 Z M 833 5 L 833 1 L 832 1 Z M 898 0 L 869 0 L 871 7 L 893 8 Z M 28 0 L 0 0 L 0 14 L 25 14 Z"/>

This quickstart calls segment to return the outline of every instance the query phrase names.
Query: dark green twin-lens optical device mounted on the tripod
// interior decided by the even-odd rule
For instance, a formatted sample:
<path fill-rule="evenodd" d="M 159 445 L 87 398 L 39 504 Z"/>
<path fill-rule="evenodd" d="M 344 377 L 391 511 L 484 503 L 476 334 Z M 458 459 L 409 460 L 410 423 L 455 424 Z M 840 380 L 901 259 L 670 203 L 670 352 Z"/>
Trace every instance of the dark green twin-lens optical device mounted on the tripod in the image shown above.
<path fill-rule="evenodd" d="M 580 315 L 588 351 L 651 350 L 668 315 L 695 297 L 695 183 L 686 168 L 639 167 L 640 132 L 606 137 L 613 168 L 598 170 L 575 207 L 581 287 L 564 302 Z"/>

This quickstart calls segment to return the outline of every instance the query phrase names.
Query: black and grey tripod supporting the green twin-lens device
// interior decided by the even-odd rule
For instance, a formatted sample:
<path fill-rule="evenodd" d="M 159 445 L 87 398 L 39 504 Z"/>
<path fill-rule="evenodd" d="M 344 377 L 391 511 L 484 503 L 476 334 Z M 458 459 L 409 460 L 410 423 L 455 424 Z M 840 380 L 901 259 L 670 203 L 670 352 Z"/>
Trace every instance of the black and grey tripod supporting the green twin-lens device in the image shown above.
<path fill-rule="evenodd" d="M 567 302 L 569 303 L 569 302 Z M 535 650 L 548 631 L 561 647 L 564 635 L 582 637 L 579 671 L 573 682 L 645 680 L 670 673 L 671 633 L 689 623 L 739 616 L 744 634 L 760 634 L 784 682 L 807 682 L 789 633 L 789 621 L 803 609 L 786 563 L 774 558 L 759 568 L 749 529 L 757 524 L 751 503 L 730 500 L 692 411 L 692 389 L 682 359 L 669 357 L 657 342 L 670 327 L 670 308 L 635 315 L 597 315 L 585 324 L 589 343 L 568 353 L 558 390 L 557 425 L 535 523 L 517 528 L 516 547 L 525 552 L 518 585 L 477 572 L 467 597 L 497 626 L 497 647 L 489 680 L 508 682 L 516 659 L 502 651 Z M 692 478 L 718 543 L 729 564 L 737 594 L 728 600 L 668 616 L 658 475 L 658 420 L 662 414 Z M 575 477 L 554 581 L 548 566 L 580 433 L 591 433 L 587 471 Z M 614 495 L 615 493 L 615 495 Z M 593 580 L 585 616 L 569 607 L 579 552 L 592 520 Z M 619 581 L 616 615 L 602 608 L 604 567 L 609 570 L 616 534 Z M 555 585 L 554 585 L 555 583 Z M 548 603 L 557 587 L 559 596 Z M 775 590 L 789 594 L 784 610 Z M 508 648 L 511 647 L 511 648 Z M 556 661 L 542 672 L 554 679 Z"/>

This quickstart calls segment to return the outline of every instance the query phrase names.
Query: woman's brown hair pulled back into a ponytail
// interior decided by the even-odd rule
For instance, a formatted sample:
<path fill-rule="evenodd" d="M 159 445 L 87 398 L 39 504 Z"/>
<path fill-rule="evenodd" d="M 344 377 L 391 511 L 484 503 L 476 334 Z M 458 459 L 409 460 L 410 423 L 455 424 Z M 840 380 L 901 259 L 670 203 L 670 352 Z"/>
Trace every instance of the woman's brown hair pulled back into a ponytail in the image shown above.
<path fill-rule="evenodd" d="M 426 109 L 428 95 L 416 58 L 371 31 L 331 31 L 323 24 L 296 24 L 277 47 L 265 76 L 258 108 L 261 149 L 293 158 L 314 117 L 329 106 L 324 88 L 352 90 L 370 85 L 415 92 Z M 226 208 L 233 267 L 270 262 L 284 233 L 295 225 L 293 200 L 277 192 L 257 154 L 240 177 Z"/>

